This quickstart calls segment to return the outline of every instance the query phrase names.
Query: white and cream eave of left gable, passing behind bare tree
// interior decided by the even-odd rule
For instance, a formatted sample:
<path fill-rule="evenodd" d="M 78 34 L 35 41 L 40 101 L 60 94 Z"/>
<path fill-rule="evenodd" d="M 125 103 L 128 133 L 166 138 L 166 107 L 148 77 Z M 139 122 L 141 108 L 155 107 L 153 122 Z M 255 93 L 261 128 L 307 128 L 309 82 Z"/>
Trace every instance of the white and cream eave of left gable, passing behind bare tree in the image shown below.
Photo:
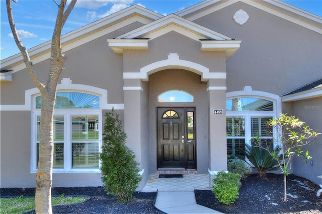
<path fill-rule="evenodd" d="M 62 51 L 66 52 L 131 23 L 140 22 L 145 25 L 162 17 L 164 16 L 140 6 L 133 5 L 108 17 L 62 35 Z M 50 47 L 51 41 L 47 41 L 29 49 L 28 53 L 31 61 L 36 64 L 48 59 L 50 57 Z M 15 73 L 25 67 L 21 53 L 1 60 L 1 70 L 13 70 L 13 73 Z"/>

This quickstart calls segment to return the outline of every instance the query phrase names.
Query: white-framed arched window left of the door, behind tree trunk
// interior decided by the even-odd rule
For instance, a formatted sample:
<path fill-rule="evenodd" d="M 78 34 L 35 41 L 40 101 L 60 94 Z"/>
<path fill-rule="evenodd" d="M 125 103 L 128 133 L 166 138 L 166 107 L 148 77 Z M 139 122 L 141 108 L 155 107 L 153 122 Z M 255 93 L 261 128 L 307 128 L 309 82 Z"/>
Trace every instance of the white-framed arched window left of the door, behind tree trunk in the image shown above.
<path fill-rule="evenodd" d="M 58 92 L 57 96 L 53 118 L 53 172 L 100 172 L 100 97 L 79 92 Z M 37 96 L 34 101 L 32 172 L 36 172 L 39 160 L 42 97 Z"/>

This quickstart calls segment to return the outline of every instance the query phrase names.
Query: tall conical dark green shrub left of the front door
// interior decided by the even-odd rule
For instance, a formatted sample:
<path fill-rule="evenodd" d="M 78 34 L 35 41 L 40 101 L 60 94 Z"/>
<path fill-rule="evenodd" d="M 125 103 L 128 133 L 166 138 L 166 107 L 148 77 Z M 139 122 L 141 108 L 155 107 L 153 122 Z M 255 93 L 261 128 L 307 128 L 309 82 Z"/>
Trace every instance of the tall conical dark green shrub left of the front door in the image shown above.
<path fill-rule="evenodd" d="M 126 134 L 122 131 L 122 122 L 114 113 L 106 113 L 103 132 L 102 153 L 102 182 L 108 194 L 113 194 L 119 202 L 128 203 L 138 187 L 138 163 L 132 150 L 125 146 Z"/>

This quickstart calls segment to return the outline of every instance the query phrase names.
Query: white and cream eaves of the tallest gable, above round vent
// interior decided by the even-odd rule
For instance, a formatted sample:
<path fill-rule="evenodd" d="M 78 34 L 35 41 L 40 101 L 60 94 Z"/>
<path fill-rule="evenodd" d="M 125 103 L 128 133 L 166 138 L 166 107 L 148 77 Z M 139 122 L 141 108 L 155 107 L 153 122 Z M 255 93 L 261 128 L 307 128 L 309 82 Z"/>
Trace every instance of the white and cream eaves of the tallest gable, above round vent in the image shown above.
<path fill-rule="evenodd" d="M 277 17 L 322 34 L 322 17 L 293 7 L 279 0 L 204 1 L 185 10 L 179 11 L 176 13 L 176 15 L 184 19 L 194 21 L 210 13 L 235 4 L 236 2 L 243 2 L 267 13 L 273 14 Z"/>

